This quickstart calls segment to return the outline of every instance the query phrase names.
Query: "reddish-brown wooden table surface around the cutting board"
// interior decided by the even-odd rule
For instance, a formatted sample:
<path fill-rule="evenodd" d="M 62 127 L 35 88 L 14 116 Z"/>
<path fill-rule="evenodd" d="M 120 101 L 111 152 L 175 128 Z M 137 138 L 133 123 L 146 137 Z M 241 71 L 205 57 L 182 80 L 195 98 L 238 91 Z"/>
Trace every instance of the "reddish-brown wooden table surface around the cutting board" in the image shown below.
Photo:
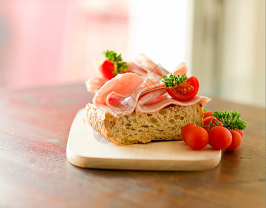
<path fill-rule="evenodd" d="M 0 207 L 265 207 L 265 109 L 218 98 L 248 122 L 238 150 L 209 171 L 78 168 L 66 156 L 85 85 L 0 90 Z"/>

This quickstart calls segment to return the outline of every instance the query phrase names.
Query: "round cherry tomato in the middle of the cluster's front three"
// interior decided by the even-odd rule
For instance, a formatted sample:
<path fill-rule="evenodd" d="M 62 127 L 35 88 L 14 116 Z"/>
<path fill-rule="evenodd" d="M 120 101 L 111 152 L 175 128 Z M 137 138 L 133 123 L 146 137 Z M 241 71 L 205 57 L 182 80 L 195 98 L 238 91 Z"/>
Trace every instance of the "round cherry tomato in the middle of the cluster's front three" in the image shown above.
<path fill-rule="evenodd" d="M 209 144 L 215 150 L 224 150 L 232 142 L 231 132 L 223 126 L 215 126 L 209 131 Z"/>

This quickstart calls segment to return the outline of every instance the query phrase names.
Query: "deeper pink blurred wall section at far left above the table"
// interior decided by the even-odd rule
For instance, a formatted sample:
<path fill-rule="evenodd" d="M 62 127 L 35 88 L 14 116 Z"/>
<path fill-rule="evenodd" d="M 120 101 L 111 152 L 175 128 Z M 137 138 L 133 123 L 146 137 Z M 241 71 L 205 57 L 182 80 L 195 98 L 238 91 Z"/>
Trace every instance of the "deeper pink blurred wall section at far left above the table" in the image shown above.
<path fill-rule="evenodd" d="M 1 85 L 57 83 L 69 1 L 1 1 L 8 42 Z M 0 65 L 0 67 L 3 67 Z"/>

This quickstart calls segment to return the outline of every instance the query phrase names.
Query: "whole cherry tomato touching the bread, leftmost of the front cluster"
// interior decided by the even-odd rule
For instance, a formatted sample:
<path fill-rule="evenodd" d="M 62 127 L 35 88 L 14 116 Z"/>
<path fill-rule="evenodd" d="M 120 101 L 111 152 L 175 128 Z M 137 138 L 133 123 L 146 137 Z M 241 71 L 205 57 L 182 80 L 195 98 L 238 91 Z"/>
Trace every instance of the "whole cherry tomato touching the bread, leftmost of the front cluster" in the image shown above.
<path fill-rule="evenodd" d="M 186 144 L 193 150 L 201 150 L 208 144 L 208 141 L 208 132 L 202 127 L 190 128 L 186 133 Z"/>

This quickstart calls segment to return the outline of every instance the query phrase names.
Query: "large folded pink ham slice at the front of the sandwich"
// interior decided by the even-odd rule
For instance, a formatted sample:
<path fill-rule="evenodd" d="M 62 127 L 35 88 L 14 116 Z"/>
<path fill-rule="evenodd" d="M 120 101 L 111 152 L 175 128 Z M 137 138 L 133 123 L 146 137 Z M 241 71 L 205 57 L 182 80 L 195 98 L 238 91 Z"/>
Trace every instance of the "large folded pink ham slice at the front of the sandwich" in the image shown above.
<path fill-rule="evenodd" d="M 179 64 L 175 75 L 187 72 L 185 63 Z M 166 85 L 154 73 L 140 76 L 122 73 L 107 81 L 94 96 L 93 103 L 100 110 L 120 117 L 132 112 L 154 112 L 168 105 L 188 106 L 211 101 L 205 96 L 195 96 L 190 101 L 177 101 L 166 93 Z"/>

